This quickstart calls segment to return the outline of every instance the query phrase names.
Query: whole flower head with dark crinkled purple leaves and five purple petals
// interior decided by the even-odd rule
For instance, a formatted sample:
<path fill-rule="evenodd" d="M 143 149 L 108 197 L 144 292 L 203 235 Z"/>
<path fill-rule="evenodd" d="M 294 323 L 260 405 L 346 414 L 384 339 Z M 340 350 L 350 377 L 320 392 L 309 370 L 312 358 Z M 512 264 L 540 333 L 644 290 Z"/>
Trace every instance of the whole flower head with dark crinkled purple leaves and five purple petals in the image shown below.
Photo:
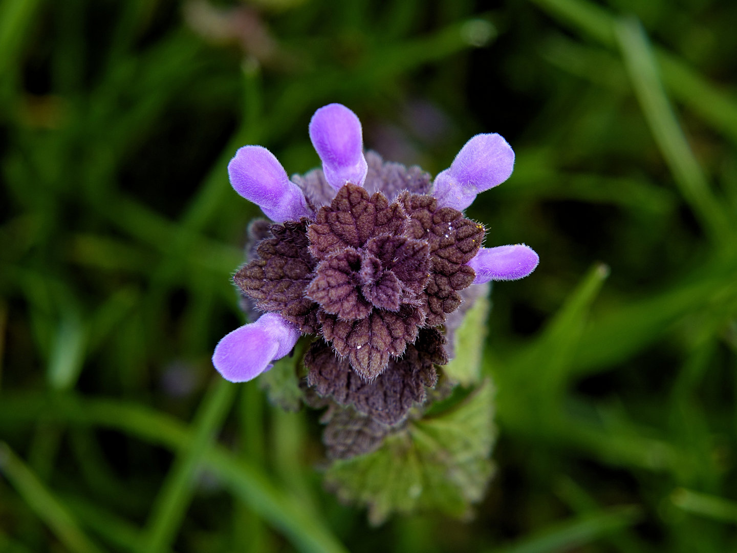
<path fill-rule="evenodd" d="M 514 152 L 498 134 L 479 134 L 433 182 L 364 153 L 360 121 L 344 105 L 318 109 L 309 131 L 321 170 L 290 180 L 260 146 L 240 148 L 228 165 L 236 192 L 276 224 L 251 227 L 257 244 L 234 276 L 263 314 L 226 335 L 213 364 L 228 380 L 251 380 L 312 335 L 312 392 L 396 425 L 447 363 L 443 328 L 464 290 L 537 266 L 524 244 L 483 248 L 483 226 L 463 214 L 509 178 Z"/>

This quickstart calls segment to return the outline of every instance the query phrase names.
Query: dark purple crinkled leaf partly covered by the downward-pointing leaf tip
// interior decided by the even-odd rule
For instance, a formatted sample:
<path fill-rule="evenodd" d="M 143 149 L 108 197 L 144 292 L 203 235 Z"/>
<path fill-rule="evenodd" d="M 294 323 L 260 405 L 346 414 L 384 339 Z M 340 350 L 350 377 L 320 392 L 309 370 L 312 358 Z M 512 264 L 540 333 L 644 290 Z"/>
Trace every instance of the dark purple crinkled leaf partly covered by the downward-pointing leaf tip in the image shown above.
<path fill-rule="evenodd" d="M 381 375 L 366 381 L 328 344 L 315 341 L 304 356 L 310 371 L 307 383 L 322 397 L 332 397 L 342 406 L 353 406 L 374 420 L 394 425 L 404 419 L 413 405 L 425 401 L 426 386 L 435 386 L 433 364 L 447 361 L 443 343 L 443 336 L 436 330 L 422 330 L 401 359 L 389 361 Z"/>

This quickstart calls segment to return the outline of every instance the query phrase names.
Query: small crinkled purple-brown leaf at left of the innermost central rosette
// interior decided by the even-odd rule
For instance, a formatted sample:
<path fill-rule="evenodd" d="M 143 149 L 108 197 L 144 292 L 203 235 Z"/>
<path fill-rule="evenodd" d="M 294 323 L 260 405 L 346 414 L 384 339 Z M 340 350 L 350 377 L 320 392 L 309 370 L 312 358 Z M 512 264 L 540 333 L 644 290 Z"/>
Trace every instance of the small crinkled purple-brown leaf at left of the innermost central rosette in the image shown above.
<path fill-rule="evenodd" d="M 361 257 L 354 248 L 336 251 L 318 264 L 315 278 L 307 286 L 307 297 L 343 321 L 364 319 L 371 304 L 360 293 L 358 271 Z"/>

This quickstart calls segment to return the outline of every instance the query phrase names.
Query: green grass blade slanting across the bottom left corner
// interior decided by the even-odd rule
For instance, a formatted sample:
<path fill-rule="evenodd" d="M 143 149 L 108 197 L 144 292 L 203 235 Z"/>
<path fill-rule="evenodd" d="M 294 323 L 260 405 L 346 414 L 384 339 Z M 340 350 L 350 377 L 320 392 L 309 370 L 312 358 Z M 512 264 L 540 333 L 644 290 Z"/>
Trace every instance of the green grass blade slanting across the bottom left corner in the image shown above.
<path fill-rule="evenodd" d="M 26 503 L 74 553 L 96 553 L 100 549 L 80 529 L 69 510 L 4 442 L 0 442 L 0 471 Z"/>

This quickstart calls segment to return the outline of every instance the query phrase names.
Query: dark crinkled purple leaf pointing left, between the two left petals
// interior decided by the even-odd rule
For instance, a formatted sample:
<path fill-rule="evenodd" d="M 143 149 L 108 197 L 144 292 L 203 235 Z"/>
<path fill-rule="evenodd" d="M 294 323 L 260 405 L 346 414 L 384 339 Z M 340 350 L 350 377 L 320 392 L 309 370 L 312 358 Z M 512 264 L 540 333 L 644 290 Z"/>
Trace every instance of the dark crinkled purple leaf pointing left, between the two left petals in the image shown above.
<path fill-rule="evenodd" d="M 273 237 L 261 240 L 256 257 L 233 277 L 246 296 L 264 311 L 277 311 L 303 333 L 315 333 L 317 305 L 304 296 L 315 260 L 307 249 L 306 220 L 273 225 Z"/>

